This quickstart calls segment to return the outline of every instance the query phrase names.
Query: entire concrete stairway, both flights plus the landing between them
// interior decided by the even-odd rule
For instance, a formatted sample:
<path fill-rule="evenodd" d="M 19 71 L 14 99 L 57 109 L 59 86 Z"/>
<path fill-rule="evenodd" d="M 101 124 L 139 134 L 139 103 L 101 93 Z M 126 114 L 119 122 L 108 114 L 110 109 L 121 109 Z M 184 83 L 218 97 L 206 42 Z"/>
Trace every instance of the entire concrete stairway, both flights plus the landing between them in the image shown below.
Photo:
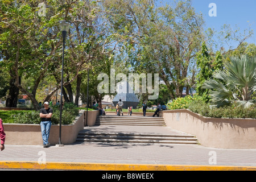
<path fill-rule="evenodd" d="M 165 143 L 197 144 L 197 138 L 190 134 L 168 133 L 163 130 L 166 123 L 163 118 L 143 117 L 139 115 L 104 115 L 96 118 L 92 130 L 85 129 L 77 135 L 76 142 L 119 142 L 119 143 Z M 106 130 L 100 130 L 100 128 Z M 113 130 L 118 128 L 118 130 Z M 112 131 L 111 131 L 112 130 Z M 158 130 L 158 131 L 156 131 Z"/>

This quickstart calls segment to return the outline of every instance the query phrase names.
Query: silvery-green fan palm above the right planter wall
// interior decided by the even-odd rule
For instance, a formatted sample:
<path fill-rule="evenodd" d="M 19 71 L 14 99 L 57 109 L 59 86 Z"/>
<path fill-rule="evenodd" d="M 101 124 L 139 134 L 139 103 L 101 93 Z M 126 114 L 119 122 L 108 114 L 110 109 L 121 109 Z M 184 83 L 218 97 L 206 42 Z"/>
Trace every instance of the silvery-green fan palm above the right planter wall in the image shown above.
<path fill-rule="evenodd" d="M 256 57 L 230 57 L 230 62 L 225 64 L 223 71 L 213 73 L 213 79 L 206 80 L 203 88 L 211 89 L 210 97 L 215 106 L 228 105 L 231 102 L 237 102 L 245 108 L 253 105 L 256 91 Z"/>

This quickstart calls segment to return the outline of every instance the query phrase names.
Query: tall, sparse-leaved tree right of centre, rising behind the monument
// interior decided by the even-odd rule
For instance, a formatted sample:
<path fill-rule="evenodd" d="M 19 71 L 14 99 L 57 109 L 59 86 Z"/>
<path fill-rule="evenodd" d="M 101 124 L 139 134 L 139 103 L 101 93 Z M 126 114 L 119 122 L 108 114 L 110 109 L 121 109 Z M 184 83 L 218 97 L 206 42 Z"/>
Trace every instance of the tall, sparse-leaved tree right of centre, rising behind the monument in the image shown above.
<path fill-rule="evenodd" d="M 195 81 L 195 56 L 203 39 L 203 18 L 191 1 L 155 7 L 154 1 L 111 1 L 121 16 L 108 17 L 120 32 L 130 32 L 124 44 L 135 72 L 159 73 L 172 98 Z M 174 89 L 175 88 L 175 93 Z"/>

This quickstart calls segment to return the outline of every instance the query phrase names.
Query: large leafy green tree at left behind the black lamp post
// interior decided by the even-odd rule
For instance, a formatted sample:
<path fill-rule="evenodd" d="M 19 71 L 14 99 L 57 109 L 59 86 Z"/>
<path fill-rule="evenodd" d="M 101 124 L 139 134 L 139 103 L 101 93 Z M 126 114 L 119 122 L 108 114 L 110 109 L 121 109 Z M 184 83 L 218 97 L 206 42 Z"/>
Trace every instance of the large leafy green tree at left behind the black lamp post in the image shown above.
<path fill-rule="evenodd" d="M 37 13 L 38 2 L 0 1 L 0 48 L 1 53 L 5 54 L 0 64 L 2 68 L 14 72 L 15 86 L 30 97 L 35 110 L 40 109 L 36 101 L 40 81 L 51 75 L 58 81 L 56 89 L 48 93 L 44 101 L 49 100 L 60 88 L 60 20 L 71 22 L 65 50 L 63 84 L 69 100 L 73 97 L 71 82 L 90 67 L 89 61 L 102 55 L 111 56 L 115 46 L 122 41 L 119 34 L 108 30 L 96 1 L 48 0 L 45 3 L 46 16 L 40 17 Z M 28 90 L 20 84 L 20 76 L 24 79 L 33 78 L 32 89 Z M 79 89 L 79 85 L 77 88 Z"/>

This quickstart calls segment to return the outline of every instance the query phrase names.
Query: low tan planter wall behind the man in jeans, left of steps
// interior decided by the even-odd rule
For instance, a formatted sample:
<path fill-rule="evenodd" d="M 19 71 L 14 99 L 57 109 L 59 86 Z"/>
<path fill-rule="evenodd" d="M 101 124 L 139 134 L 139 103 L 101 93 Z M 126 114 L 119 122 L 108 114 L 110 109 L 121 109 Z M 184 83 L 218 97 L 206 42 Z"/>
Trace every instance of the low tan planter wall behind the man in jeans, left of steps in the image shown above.
<path fill-rule="evenodd" d="M 5 144 L 42 145 L 40 125 L 9 124 L 4 123 L 6 133 Z M 84 129 L 84 110 L 71 125 L 61 125 L 61 143 L 71 144 L 76 141 L 79 131 Z M 49 134 L 49 143 L 59 142 L 59 125 L 52 125 Z"/>

